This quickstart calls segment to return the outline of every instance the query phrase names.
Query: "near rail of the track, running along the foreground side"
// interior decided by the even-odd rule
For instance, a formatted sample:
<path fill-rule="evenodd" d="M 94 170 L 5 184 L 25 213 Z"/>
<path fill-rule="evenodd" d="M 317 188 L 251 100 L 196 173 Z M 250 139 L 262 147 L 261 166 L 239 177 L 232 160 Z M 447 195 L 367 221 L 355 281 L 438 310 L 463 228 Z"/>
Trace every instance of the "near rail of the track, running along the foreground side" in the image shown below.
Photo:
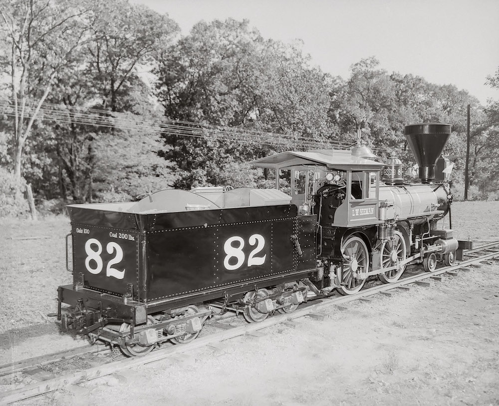
<path fill-rule="evenodd" d="M 476 252 L 477 250 L 484 250 L 486 248 L 490 248 L 492 246 L 498 246 L 499 241 L 488 244 L 486 246 L 477 247 L 474 250 L 469 250 Z M 468 251 L 467 251 L 468 252 Z M 243 336 L 245 334 L 254 333 L 258 330 L 262 330 L 271 326 L 275 326 L 277 324 L 294 320 L 299 317 L 304 317 L 316 313 L 319 310 L 322 310 L 327 307 L 341 305 L 349 302 L 353 302 L 355 300 L 367 298 L 369 296 L 374 296 L 379 293 L 388 292 L 393 289 L 397 289 L 400 287 L 404 287 L 424 279 L 429 279 L 434 276 L 442 275 L 445 273 L 450 273 L 453 271 L 457 271 L 459 269 L 466 269 L 468 265 L 478 264 L 483 261 L 487 261 L 488 259 L 493 259 L 499 257 L 499 250 L 497 252 L 487 253 L 478 258 L 472 258 L 466 261 L 462 261 L 459 264 L 439 268 L 433 272 L 424 272 L 418 275 L 409 276 L 407 278 L 401 279 L 397 282 L 391 284 L 383 284 L 380 286 L 375 286 L 368 289 L 363 289 L 358 293 L 350 296 L 334 296 L 331 298 L 319 299 L 313 305 L 309 305 L 304 309 L 296 310 L 293 313 L 288 313 L 284 315 L 274 315 L 271 318 L 267 318 L 260 323 L 251 323 L 246 326 L 234 327 L 229 330 L 224 330 L 219 333 L 214 333 L 206 337 L 198 338 L 194 340 L 192 343 L 183 344 L 183 345 L 174 345 L 169 346 L 164 349 L 157 349 L 156 351 L 144 356 L 144 357 L 135 357 L 129 358 L 126 360 L 111 362 L 102 366 L 93 367 L 84 371 L 76 372 L 70 375 L 53 378 L 47 381 L 43 381 L 41 383 L 35 383 L 25 386 L 24 388 L 18 390 L 12 390 L 8 392 L 4 392 L 0 394 L 0 404 L 9 404 L 13 402 L 17 402 L 23 399 L 32 398 L 34 396 L 43 395 L 45 393 L 53 392 L 61 387 L 67 385 L 75 385 L 82 382 L 90 381 L 96 378 L 100 378 L 106 375 L 114 374 L 116 372 L 139 367 L 142 365 L 150 364 L 157 361 L 165 360 L 174 355 L 188 353 L 190 351 L 208 346 L 210 344 L 220 343 L 225 340 L 229 340 L 238 336 Z"/>

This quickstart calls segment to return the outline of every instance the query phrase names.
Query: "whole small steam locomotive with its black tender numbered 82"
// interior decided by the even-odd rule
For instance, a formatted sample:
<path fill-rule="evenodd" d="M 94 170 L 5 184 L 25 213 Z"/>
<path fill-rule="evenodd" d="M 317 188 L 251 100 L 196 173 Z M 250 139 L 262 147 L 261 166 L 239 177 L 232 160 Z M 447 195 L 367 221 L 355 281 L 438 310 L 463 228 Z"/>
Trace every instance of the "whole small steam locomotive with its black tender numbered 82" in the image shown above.
<path fill-rule="evenodd" d="M 464 246 L 437 228 L 447 214 L 450 223 L 447 161 L 435 171 L 450 125 L 404 132 L 422 183 L 404 183 L 400 160 L 369 159 L 358 143 L 253 161 L 275 170 L 275 189 L 163 190 L 138 202 L 67 206 L 73 284 L 58 289 L 58 320 L 144 355 L 167 340 L 194 340 L 227 309 L 261 322 L 333 290 L 354 294 L 371 278 L 393 283 L 411 263 L 453 264 Z M 286 170 L 291 196 L 279 190 Z"/>

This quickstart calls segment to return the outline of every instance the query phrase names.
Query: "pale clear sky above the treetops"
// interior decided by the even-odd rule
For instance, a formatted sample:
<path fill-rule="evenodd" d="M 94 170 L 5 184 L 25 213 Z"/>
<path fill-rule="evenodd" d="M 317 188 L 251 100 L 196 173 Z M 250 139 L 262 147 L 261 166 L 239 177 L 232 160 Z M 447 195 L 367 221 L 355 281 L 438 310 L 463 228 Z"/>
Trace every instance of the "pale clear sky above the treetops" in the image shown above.
<path fill-rule="evenodd" d="M 499 67 L 499 0 L 132 0 L 168 13 L 184 35 L 200 20 L 250 20 L 264 38 L 303 41 L 324 72 L 348 78 L 375 56 L 389 73 L 466 89 L 484 105 Z"/>

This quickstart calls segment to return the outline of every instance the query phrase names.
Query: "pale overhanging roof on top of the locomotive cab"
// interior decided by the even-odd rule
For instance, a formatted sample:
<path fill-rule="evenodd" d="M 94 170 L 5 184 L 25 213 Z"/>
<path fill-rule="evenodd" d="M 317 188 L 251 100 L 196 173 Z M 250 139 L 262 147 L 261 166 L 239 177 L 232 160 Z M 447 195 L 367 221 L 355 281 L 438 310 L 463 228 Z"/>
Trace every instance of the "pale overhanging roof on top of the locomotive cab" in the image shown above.
<path fill-rule="evenodd" d="M 358 156 L 352 156 L 351 151 L 339 149 L 323 149 L 301 151 L 286 151 L 266 156 L 250 162 L 257 168 L 286 169 L 300 165 L 321 165 L 336 170 L 380 170 L 385 164 Z"/>

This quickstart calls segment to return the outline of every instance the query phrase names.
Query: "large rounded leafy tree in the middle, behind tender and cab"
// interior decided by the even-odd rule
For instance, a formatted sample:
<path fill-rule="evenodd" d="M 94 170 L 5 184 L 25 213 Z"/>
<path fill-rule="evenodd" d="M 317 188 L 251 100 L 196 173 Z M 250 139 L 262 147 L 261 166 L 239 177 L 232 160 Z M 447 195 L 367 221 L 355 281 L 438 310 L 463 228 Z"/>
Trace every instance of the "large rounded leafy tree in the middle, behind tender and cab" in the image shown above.
<path fill-rule="evenodd" d="M 334 134 L 328 77 L 309 66 L 299 46 L 264 40 L 246 20 L 201 21 L 178 43 L 159 49 L 156 59 L 156 94 L 170 119 L 310 140 Z M 234 179 L 229 173 L 248 173 L 242 161 L 272 151 L 250 137 L 165 139 L 165 156 L 180 170 L 175 185 L 182 188 L 222 184 Z"/>

